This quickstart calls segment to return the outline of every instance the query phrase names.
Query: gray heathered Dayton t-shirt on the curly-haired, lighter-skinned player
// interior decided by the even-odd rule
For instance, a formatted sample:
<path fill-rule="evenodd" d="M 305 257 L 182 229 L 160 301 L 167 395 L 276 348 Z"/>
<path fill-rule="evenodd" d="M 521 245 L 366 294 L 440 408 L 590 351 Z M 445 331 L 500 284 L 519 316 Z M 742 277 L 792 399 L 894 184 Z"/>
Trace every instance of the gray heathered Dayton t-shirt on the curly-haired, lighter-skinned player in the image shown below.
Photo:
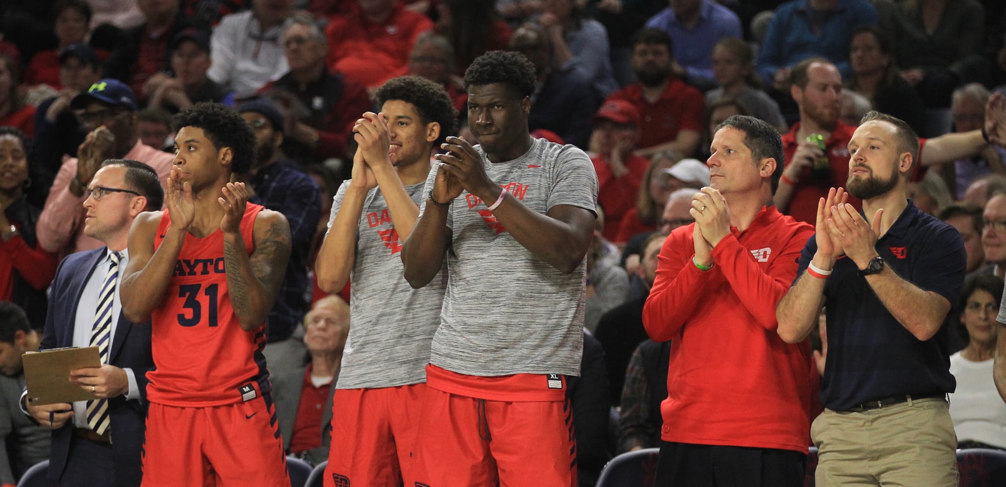
<path fill-rule="evenodd" d="M 424 186 L 405 187 L 412 201 L 424 199 Z M 329 228 L 348 187 L 347 180 L 333 198 Z M 357 226 L 356 261 L 349 278 L 349 338 L 336 388 L 427 381 L 430 342 L 440 324 L 447 273 L 441 270 L 425 288 L 412 289 L 401 266 L 401 244 L 380 188 L 371 189 Z"/>

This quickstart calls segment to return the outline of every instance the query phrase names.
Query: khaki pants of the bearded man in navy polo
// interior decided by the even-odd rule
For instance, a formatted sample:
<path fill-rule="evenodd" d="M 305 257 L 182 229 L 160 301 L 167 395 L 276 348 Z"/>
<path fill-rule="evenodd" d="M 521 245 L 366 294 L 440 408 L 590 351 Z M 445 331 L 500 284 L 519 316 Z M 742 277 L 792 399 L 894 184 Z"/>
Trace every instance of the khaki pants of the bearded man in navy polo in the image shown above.
<path fill-rule="evenodd" d="M 811 439 L 819 487 L 957 486 L 957 437 L 942 398 L 864 413 L 826 409 L 811 425 Z"/>

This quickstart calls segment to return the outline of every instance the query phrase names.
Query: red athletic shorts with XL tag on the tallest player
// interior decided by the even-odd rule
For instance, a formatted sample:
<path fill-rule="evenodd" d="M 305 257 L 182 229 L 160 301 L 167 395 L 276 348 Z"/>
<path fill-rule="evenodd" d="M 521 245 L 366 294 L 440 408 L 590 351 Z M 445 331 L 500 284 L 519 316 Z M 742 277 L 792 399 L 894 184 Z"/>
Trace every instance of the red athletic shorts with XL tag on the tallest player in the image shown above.
<path fill-rule="evenodd" d="M 414 485 L 494 486 L 498 480 L 500 487 L 574 487 L 575 449 L 567 400 L 478 399 L 431 382 L 412 449 Z"/>

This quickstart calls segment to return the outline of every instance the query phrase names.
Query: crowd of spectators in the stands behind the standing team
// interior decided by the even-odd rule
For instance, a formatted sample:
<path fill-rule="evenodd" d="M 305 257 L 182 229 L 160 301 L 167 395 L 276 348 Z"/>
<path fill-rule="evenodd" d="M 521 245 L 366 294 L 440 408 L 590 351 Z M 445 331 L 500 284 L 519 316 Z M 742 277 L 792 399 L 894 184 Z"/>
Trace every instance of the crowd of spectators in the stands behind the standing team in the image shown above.
<path fill-rule="evenodd" d="M 475 145 L 464 76 L 494 50 L 533 64 L 531 134 L 583 150 L 597 175 L 582 376 L 567 392 L 581 486 L 613 456 L 660 445 L 671 348 L 648 339 L 644 304 L 661 244 L 694 221 L 692 195 L 709 185 L 716 127 L 734 115 L 782 135 L 773 201 L 811 224 L 819 198 L 849 178 L 863 114 L 897 117 L 923 137 L 909 197 L 956 227 L 968 254 L 951 320 L 951 415 L 961 445 L 1006 449 L 991 371 L 1006 278 L 1006 148 L 987 133 L 999 116 L 990 100 L 1006 95 L 999 0 L 5 1 L 0 301 L 20 310 L 0 303 L 0 352 L 38 349 L 57 267 L 104 246 L 85 231 L 82 203 L 105 161 L 141 161 L 166 185 L 171 117 L 201 102 L 233 107 L 256 136 L 256 162 L 235 178 L 249 201 L 283 213 L 292 235 L 266 320 L 284 448 L 327 459 L 356 283 L 331 289 L 315 263 L 333 197 L 341 203 L 340 184 L 361 164 L 353 127 L 379 109 L 386 82 L 414 74 L 443 87 L 457 111 L 459 129 L 440 139 Z M 362 217 L 371 226 L 389 218 Z M 23 371 L 0 358 L 6 402 Z M 819 383 L 818 364 L 806 365 Z M 8 485 L 46 458 L 50 440 L 16 403 L 0 417 Z"/>

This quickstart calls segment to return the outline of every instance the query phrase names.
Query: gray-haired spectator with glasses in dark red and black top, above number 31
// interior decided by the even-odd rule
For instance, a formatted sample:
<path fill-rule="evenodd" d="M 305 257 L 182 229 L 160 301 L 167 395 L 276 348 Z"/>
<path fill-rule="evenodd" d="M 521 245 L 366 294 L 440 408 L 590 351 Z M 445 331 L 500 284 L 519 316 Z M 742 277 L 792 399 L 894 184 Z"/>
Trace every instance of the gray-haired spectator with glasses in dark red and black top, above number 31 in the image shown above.
<path fill-rule="evenodd" d="M 283 152 L 308 165 L 343 157 L 353 124 L 370 110 L 364 88 L 325 66 L 325 33 L 307 16 L 283 32 L 290 71 L 260 91 L 285 112 Z"/>

